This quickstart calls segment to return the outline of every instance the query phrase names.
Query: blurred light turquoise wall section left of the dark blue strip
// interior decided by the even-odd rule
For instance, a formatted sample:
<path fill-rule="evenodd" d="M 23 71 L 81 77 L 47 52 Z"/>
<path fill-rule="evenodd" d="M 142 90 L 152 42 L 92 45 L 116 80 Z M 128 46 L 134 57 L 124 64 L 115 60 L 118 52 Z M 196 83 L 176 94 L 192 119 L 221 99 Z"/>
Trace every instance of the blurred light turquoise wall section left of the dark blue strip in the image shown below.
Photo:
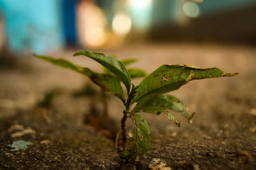
<path fill-rule="evenodd" d="M 63 47 L 61 0 L 1 0 L 13 52 L 47 53 Z"/>

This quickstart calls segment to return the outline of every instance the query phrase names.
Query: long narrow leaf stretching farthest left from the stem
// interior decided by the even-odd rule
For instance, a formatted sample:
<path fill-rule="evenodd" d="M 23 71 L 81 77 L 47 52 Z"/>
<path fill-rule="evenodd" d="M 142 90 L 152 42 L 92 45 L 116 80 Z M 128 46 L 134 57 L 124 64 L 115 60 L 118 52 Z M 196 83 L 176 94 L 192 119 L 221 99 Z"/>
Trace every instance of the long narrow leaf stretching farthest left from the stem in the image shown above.
<path fill-rule="evenodd" d="M 102 89 L 108 92 L 111 92 L 116 97 L 120 98 L 122 101 L 125 100 L 122 86 L 120 85 L 118 78 L 116 78 L 115 76 L 112 76 L 110 74 L 95 73 L 88 67 L 77 66 L 75 64 L 72 64 L 71 62 L 68 62 L 65 59 L 54 59 L 52 57 L 45 57 L 40 55 L 34 55 L 34 56 L 38 59 L 51 62 L 52 64 L 55 64 L 57 66 L 65 67 L 67 69 L 72 69 L 73 71 L 84 74 L 85 76 L 90 78 L 90 80 L 92 80 L 93 83 L 95 83 L 96 85 L 99 85 L 99 87 L 101 87 Z"/>

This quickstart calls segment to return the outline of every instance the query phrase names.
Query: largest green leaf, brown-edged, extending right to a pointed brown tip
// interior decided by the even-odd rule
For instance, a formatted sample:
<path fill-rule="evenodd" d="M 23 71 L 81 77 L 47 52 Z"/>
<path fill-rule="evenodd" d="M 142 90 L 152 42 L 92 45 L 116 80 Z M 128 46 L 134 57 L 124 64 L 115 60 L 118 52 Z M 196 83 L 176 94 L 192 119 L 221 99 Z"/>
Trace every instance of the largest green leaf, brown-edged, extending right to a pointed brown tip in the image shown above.
<path fill-rule="evenodd" d="M 234 76 L 238 73 L 223 73 L 221 69 L 200 68 L 184 64 L 163 65 L 149 74 L 140 85 L 135 87 L 136 94 L 132 103 L 138 102 L 147 97 L 158 96 L 167 92 L 177 90 L 191 80 L 204 78 L 216 78 L 224 76 Z"/>

